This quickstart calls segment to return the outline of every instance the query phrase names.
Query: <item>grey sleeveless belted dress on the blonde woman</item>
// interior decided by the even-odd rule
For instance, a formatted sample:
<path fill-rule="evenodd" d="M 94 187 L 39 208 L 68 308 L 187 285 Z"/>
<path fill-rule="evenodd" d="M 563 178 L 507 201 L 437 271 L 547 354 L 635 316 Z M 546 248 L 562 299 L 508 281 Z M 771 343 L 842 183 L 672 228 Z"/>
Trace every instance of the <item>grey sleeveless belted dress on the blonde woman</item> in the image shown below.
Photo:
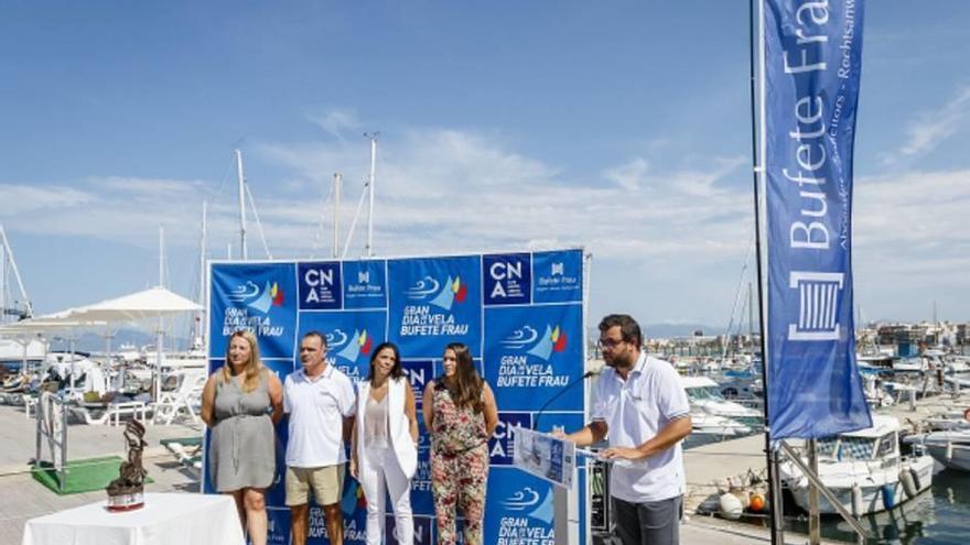
<path fill-rule="evenodd" d="M 268 488 L 276 472 L 268 371 L 260 373 L 251 392 L 244 392 L 241 383 L 241 377 L 216 382 L 209 472 L 219 492 Z"/>

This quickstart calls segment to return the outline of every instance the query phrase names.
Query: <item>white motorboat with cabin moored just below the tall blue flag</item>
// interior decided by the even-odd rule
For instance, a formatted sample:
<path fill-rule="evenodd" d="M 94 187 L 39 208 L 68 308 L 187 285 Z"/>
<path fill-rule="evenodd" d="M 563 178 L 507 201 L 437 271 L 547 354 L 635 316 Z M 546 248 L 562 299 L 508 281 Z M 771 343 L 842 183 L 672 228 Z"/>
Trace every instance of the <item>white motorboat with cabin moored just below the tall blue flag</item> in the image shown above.
<path fill-rule="evenodd" d="M 928 489 L 933 458 L 899 454 L 899 421 L 873 415 L 873 427 L 818 440 L 818 473 L 842 506 L 855 516 L 893 509 Z M 790 461 L 780 465 L 782 481 L 795 502 L 808 510 L 808 479 Z M 819 498 L 822 513 L 836 513 Z"/>

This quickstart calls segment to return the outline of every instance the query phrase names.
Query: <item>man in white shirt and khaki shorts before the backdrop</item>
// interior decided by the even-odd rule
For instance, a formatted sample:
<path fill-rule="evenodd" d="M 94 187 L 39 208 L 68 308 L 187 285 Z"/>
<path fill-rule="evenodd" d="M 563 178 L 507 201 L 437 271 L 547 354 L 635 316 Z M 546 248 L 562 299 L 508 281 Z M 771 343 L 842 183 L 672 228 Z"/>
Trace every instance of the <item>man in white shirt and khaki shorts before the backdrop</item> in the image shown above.
<path fill-rule="evenodd" d="M 306 543 L 312 488 L 316 503 L 323 506 L 330 543 L 343 545 L 344 442 L 354 424 L 354 384 L 326 363 L 326 339 L 316 331 L 300 341 L 300 362 L 303 369 L 290 373 L 283 386 L 283 410 L 290 416 L 287 505 L 291 543 Z"/>

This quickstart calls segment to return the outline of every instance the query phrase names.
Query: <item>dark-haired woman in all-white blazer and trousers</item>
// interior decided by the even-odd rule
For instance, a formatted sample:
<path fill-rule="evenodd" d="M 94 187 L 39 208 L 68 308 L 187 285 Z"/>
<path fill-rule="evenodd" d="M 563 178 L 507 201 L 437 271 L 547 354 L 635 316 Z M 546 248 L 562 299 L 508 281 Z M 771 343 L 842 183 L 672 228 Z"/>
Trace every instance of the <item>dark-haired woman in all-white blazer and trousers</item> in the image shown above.
<path fill-rule="evenodd" d="M 360 482 L 367 499 L 367 544 L 382 542 L 386 489 L 397 542 L 412 545 L 411 478 L 418 468 L 418 416 L 414 393 L 392 342 L 377 346 L 367 380 L 357 389 L 351 451 L 351 475 Z"/>

